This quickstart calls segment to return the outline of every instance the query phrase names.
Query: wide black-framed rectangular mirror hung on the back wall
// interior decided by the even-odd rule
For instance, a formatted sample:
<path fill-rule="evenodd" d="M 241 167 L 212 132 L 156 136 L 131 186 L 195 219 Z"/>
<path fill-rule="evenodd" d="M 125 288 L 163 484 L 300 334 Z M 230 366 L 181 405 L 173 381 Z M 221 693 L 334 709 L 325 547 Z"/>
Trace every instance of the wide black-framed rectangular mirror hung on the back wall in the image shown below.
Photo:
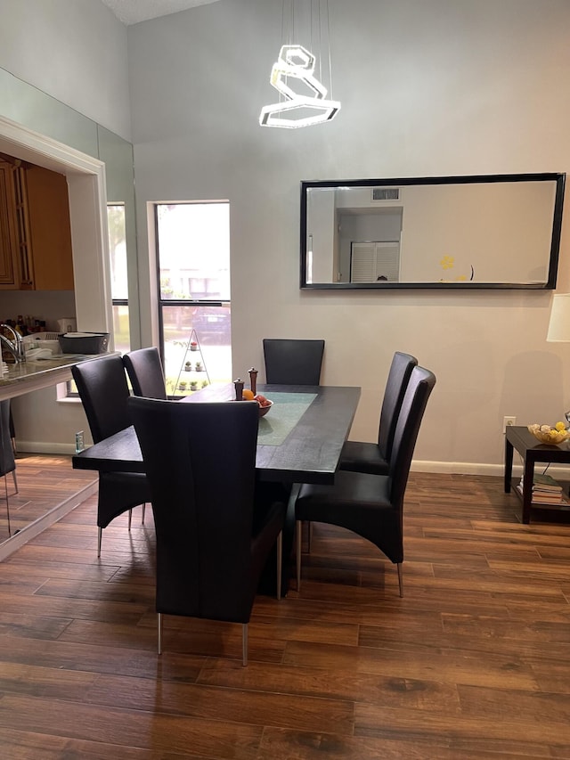
<path fill-rule="evenodd" d="M 566 174 L 301 182 L 301 288 L 556 287 Z"/>

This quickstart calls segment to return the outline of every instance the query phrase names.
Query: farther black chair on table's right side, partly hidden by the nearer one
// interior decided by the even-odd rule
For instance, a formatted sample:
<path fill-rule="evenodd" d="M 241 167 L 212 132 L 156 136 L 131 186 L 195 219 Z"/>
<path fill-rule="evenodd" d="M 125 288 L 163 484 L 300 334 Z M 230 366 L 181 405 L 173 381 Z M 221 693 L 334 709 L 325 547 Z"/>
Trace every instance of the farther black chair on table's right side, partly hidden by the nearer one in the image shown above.
<path fill-rule="evenodd" d="M 340 453 L 340 470 L 352 472 L 370 472 L 373 475 L 386 475 L 390 468 L 390 455 L 394 443 L 395 426 L 408 387 L 411 370 L 418 360 L 410 354 L 396 351 L 392 358 L 384 398 L 380 409 L 378 443 L 365 441 L 346 441 Z"/>

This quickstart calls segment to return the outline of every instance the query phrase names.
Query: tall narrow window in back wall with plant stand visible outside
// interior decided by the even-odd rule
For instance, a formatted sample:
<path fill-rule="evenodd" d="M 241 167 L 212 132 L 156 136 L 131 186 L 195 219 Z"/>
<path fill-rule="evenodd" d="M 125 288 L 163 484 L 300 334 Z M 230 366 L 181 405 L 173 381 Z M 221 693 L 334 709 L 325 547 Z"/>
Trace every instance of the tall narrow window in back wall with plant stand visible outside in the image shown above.
<path fill-rule="evenodd" d="M 160 348 L 167 393 L 180 396 L 232 379 L 230 204 L 160 203 L 155 222 Z"/>

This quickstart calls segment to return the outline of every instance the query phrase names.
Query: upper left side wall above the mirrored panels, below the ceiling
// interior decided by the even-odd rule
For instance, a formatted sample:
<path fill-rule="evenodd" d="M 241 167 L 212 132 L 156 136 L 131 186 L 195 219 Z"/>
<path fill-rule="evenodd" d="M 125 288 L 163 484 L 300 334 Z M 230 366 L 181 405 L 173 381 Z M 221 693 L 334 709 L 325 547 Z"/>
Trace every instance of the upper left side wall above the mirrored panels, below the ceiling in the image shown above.
<path fill-rule="evenodd" d="M 0 0 L 0 19 L 0 68 L 130 140 L 126 27 L 105 4 Z"/>

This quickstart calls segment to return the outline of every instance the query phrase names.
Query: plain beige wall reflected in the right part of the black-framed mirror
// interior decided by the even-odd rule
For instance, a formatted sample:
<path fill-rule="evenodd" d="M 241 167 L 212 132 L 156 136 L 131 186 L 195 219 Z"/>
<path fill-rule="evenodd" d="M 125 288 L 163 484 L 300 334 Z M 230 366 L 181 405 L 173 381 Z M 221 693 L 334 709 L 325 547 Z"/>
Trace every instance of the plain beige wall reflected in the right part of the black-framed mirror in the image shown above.
<path fill-rule="evenodd" d="M 469 280 L 472 266 L 473 282 L 546 282 L 555 192 L 554 181 L 404 187 L 403 282 Z"/>

